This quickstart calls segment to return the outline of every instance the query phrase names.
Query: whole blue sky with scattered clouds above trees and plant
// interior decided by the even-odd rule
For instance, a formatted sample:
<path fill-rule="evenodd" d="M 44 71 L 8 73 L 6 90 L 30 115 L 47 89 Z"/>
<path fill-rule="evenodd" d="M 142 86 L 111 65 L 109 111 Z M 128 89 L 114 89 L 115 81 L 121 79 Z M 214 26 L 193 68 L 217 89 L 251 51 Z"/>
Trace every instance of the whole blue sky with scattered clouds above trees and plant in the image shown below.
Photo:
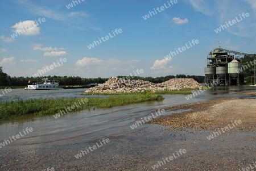
<path fill-rule="evenodd" d="M 80 1 L 80 2 L 79 2 Z M 176 74 L 204 75 L 207 54 L 218 47 L 256 53 L 256 1 L 177 0 L 88 1 L 2 0 L 0 2 L 0 66 L 10 76 L 31 77 L 38 70 L 67 59 L 42 76 L 86 78 L 128 76 L 143 69 L 142 77 Z M 171 6 L 168 6 L 170 3 Z M 68 5 L 72 4 L 73 7 Z M 166 4 L 166 7 L 164 7 Z M 149 11 L 164 10 L 150 16 Z M 163 9 L 162 8 L 162 9 Z M 241 20 L 242 13 L 248 13 Z M 238 18 L 216 33 L 225 22 Z M 39 18 L 44 22 L 35 23 Z M 32 25 L 34 24 L 34 25 Z M 31 26 L 30 26 L 31 25 Z M 11 35 L 27 27 L 14 38 Z M 30 26 L 30 28 L 28 28 Z M 118 35 L 112 30 L 121 29 Z M 98 37 L 112 35 L 93 48 Z M 170 59 L 175 48 L 189 46 Z"/>

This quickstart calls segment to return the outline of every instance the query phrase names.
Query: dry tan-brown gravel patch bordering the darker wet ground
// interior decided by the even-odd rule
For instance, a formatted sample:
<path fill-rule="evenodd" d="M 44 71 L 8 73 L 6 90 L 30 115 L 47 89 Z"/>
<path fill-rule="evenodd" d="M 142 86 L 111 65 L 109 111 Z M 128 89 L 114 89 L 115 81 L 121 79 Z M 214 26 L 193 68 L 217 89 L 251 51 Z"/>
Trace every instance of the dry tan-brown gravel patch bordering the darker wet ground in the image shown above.
<path fill-rule="evenodd" d="M 208 102 L 190 103 L 167 107 L 168 110 L 192 109 L 182 113 L 161 116 L 150 120 L 150 124 L 170 126 L 169 130 L 193 129 L 216 130 L 235 120 L 241 120 L 242 129 L 256 126 L 256 99 L 218 99 Z"/>

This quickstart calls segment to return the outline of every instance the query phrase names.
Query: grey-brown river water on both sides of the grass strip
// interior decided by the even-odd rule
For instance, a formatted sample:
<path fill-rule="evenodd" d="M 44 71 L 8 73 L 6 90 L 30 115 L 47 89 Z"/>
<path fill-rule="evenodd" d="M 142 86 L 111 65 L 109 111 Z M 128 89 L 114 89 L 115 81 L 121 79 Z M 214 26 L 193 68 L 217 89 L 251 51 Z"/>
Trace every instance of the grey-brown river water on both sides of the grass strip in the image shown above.
<path fill-rule="evenodd" d="M 11 92 L 3 95 L 3 97 L 0 97 L 0 102 L 32 98 L 105 97 L 105 95 L 81 95 L 85 90 L 13 89 Z M 127 135 L 149 127 L 150 125 L 143 124 L 133 130 L 130 126 L 137 120 L 141 120 L 142 117 L 151 115 L 156 109 L 183 103 L 209 101 L 211 99 L 256 98 L 256 95 L 237 94 L 243 91 L 256 91 L 256 87 L 216 87 L 203 93 L 200 92 L 199 95 L 189 100 L 185 98 L 187 95 L 163 95 L 164 100 L 160 102 L 143 102 L 134 105 L 112 107 L 110 109 L 68 112 L 57 119 L 53 115 L 49 115 L 26 116 L 22 119 L 0 121 L 0 143 L 5 139 L 9 139 L 9 136 L 19 134 L 20 131 L 27 127 L 32 127 L 33 131 L 9 145 L 71 144 L 93 141 L 102 137 Z M 172 112 L 166 111 L 164 115 L 171 114 Z"/>

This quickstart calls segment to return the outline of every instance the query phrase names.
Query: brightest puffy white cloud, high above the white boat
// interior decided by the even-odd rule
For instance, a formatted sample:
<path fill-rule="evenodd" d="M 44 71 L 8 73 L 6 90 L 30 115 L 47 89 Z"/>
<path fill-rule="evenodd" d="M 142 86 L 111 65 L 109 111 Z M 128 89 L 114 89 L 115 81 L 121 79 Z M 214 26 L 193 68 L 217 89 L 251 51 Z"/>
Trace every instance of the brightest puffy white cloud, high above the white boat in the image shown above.
<path fill-rule="evenodd" d="M 40 27 L 38 27 L 34 20 L 20 21 L 14 26 L 11 26 L 11 28 L 15 29 L 13 32 L 19 32 L 20 34 L 26 36 L 40 34 Z"/>

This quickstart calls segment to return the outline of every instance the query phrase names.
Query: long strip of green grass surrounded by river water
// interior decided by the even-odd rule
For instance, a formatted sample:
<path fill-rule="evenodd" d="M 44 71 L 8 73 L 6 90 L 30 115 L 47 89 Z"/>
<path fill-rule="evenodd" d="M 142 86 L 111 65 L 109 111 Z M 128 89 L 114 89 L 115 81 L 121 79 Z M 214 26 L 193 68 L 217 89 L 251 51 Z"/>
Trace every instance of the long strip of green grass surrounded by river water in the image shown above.
<path fill-rule="evenodd" d="M 17 118 L 23 115 L 52 115 L 60 110 L 65 110 L 77 104 L 75 109 L 69 111 L 80 111 L 85 109 L 109 108 L 114 106 L 124 106 L 133 103 L 146 101 L 163 100 L 162 95 L 141 94 L 141 95 L 119 95 L 107 98 L 88 98 L 84 104 L 82 99 L 30 99 L 26 101 L 3 102 L 0 103 L 0 120 Z M 80 102 L 80 103 L 79 103 Z M 80 105 L 81 104 L 81 105 Z"/>

